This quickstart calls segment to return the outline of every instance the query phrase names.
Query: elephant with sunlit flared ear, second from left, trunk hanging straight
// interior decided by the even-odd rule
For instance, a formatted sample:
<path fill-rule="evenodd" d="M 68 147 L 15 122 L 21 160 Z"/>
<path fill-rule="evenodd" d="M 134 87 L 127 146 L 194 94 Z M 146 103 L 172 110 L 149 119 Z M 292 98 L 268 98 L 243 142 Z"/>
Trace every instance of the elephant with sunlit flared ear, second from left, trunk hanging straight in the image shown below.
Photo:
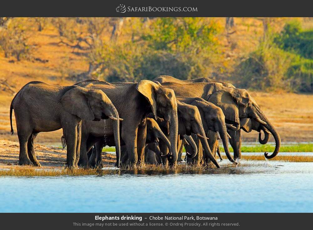
<path fill-rule="evenodd" d="M 146 125 L 142 121 L 153 114 L 169 122 L 171 137 L 171 157 L 173 164 L 177 160 L 177 102 L 174 91 L 167 89 L 149 80 L 141 80 L 139 83 L 111 84 L 105 81 L 87 80 L 76 83 L 88 89 L 102 90 L 112 101 L 119 115 L 123 117 L 121 122 L 121 139 L 126 145 L 128 160 L 126 165 L 134 166 L 144 164 L 144 148 L 146 141 Z M 104 129 L 106 125 L 106 129 Z M 84 120 L 82 123 L 82 141 L 80 147 L 80 165 L 88 166 L 86 151 L 93 146 L 98 139 L 105 138 L 106 145 L 114 146 L 110 122 L 95 123 Z"/>

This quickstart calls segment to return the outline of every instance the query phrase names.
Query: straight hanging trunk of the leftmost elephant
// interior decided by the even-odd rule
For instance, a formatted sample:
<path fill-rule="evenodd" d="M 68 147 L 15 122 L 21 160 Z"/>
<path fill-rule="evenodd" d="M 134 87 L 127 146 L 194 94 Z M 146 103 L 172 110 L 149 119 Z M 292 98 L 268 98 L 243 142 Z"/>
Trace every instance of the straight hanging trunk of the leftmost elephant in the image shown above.
<path fill-rule="evenodd" d="M 114 133 L 114 141 L 115 141 L 115 152 L 116 152 L 116 167 L 120 167 L 121 161 L 121 144 L 120 144 L 120 120 L 122 120 L 116 108 L 112 103 L 109 104 L 108 109 L 110 110 L 110 119 L 113 120 L 113 133 Z M 105 113 L 107 115 L 107 113 Z"/>

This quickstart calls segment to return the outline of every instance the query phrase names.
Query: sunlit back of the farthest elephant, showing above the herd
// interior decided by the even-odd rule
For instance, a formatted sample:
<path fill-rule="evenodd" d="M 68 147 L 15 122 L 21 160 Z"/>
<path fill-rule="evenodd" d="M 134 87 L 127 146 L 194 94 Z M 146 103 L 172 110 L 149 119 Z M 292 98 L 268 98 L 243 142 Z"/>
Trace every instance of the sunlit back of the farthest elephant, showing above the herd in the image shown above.
<path fill-rule="evenodd" d="M 210 78 L 196 78 L 196 79 L 189 79 L 189 80 L 181 80 L 181 79 L 177 79 L 168 75 L 160 75 L 156 77 L 155 79 L 153 79 L 153 81 L 157 81 L 161 84 L 164 82 L 175 82 L 179 84 L 189 84 L 189 83 L 198 83 L 198 82 L 204 82 L 204 83 L 218 82 L 218 83 L 222 83 L 223 86 L 235 88 L 235 86 L 233 86 L 232 84 L 228 82 L 217 81 L 217 80 L 210 79 Z"/>

